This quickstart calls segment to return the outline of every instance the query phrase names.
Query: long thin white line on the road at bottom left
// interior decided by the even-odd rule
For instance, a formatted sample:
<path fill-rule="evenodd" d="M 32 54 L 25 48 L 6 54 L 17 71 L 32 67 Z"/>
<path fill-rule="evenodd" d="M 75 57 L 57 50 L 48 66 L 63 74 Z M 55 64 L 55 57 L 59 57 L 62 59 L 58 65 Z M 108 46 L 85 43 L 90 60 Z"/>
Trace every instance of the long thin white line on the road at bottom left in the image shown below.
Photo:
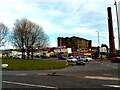
<path fill-rule="evenodd" d="M 43 86 L 43 85 L 34 85 L 34 84 L 19 83 L 19 82 L 3 81 L 3 83 L 17 84 L 17 85 L 24 85 L 24 86 L 32 86 L 32 87 L 40 87 L 40 88 L 52 88 L 52 89 L 58 89 L 57 87 Z"/>

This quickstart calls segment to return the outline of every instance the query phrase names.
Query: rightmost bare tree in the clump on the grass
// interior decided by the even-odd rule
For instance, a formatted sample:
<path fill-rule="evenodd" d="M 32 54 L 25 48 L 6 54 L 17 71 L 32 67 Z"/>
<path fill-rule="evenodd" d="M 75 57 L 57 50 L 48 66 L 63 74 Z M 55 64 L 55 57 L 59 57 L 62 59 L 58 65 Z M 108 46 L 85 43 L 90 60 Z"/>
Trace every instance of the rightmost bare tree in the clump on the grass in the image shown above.
<path fill-rule="evenodd" d="M 49 38 L 44 33 L 42 27 L 36 27 L 34 28 L 34 32 L 31 33 L 31 58 L 33 59 L 33 50 L 38 48 L 45 48 L 49 45 Z"/>

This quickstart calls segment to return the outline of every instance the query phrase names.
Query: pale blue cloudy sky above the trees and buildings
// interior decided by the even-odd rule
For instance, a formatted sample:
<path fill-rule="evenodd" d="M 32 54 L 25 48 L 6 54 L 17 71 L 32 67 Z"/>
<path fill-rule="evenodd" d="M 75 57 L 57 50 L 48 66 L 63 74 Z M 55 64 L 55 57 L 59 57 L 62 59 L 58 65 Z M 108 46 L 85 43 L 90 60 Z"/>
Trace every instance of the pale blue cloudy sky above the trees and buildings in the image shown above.
<path fill-rule="evenodd" d="M 119 2 L 120 0 L 116 0 Z M 0 22 L 12 27 L 16 19 L 27 18 L 43 27 L 50 46 L 57 47 L 57 37 L 81 37 L 98 46 L 109 46 L 107 7 L 112 8 L 115 48 L 118 49 L 118 29 L 115 0 L 0 0 Z M 1 49 L 13 48 L 7 42 Z"/>

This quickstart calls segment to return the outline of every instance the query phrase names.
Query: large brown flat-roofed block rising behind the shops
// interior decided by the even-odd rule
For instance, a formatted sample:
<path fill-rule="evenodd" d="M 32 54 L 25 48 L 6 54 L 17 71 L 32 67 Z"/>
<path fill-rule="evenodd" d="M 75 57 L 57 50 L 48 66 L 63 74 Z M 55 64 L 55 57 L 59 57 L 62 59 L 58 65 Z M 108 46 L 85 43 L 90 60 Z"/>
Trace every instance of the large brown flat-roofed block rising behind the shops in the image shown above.
<path fill-rule="evenodd" d="M 77 51 L 78 49 L 86 50 L 90 49 L 92 46 L 92 41 L 80 37 L 58 37 L 57 38 L 58 47 L 65 46 L 66 48 L 72 48 L 72 51 Z"/>

